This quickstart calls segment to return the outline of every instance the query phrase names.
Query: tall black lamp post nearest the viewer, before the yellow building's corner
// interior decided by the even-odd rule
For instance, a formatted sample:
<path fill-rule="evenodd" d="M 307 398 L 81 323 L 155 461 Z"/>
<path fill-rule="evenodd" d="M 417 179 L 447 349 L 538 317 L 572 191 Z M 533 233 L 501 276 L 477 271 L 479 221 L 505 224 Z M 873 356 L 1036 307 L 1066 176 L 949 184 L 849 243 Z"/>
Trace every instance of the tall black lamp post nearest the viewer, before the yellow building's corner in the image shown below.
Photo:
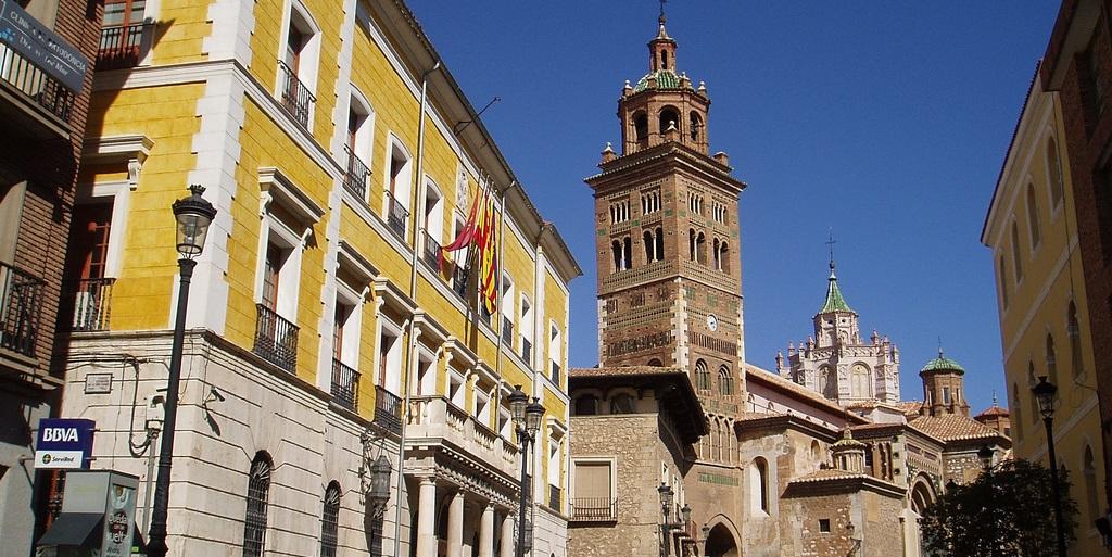
<path fill-rule="evenodd" d="M 205 200 L 205 188 L 192 185 L 187 198 L 173 202 L 173 218 L 177 221 L 178 307 L 173 321 L 173 344 L 170 349 L 170 377 L 167 379 L 166 416 L 162 420 L 162 442 L 158 452 L 158 479 L 155 483 L 155 508 L 150 519 L 149 557 L 165 557 L 166 518 L 170 503 L 170 466 L 173 458 L 173 427 L 178 419 L 178 386 L 181 382 L 181 347 L 186 338 L 186 307 L 189 301 L 189 281 L 193 277 L 195 258 L 205 249 L 205 238 L 209 225 L 216 218 L 216 208 Z"/>

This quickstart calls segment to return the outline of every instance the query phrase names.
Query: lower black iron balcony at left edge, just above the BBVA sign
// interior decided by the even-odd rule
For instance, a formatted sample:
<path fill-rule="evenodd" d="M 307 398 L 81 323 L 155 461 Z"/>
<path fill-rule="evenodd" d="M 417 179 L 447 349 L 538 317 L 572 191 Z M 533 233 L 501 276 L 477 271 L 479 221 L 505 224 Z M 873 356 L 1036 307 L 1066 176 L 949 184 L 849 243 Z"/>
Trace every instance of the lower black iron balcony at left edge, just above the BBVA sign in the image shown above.
<path fill-rule="evenodd" d="M 46 282 L 0 262 L 0 348 L 34 357 Z"/>

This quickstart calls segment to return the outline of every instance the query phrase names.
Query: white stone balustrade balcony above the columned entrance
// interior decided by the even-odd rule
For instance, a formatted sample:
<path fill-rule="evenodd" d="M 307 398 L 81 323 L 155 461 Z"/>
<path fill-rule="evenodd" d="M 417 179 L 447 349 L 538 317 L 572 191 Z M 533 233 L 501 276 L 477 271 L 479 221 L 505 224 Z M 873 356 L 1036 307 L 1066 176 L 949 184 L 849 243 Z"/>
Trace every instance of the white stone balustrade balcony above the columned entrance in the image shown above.
<path fill-rule="evenodd" d="M 445 445 L 461 449 L 478 461 L 517 477 L 519 449 L 475 416 L 440 395 L 410 397 L 407 442 L 415 446 Z"/>

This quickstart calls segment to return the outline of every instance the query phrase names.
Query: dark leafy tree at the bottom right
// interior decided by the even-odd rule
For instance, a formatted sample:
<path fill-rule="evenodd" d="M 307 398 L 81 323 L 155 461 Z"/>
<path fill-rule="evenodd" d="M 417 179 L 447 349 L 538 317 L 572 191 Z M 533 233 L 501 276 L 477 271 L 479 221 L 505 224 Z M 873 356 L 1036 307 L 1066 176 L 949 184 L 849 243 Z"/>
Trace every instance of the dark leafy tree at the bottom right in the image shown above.
<path fill-rule="evenodd" d="M 947 486 L 926 508 L 920 526 L 926 555 L 939 557 L 1055 557 L 1054 495 L 1051 471 L 1036 462 L 1001 462 L 976 480 Z M 1070 497 L 1065 469 L 1059 473 L 1062 527 L 1076 537 L 1078 504 Z"/>

